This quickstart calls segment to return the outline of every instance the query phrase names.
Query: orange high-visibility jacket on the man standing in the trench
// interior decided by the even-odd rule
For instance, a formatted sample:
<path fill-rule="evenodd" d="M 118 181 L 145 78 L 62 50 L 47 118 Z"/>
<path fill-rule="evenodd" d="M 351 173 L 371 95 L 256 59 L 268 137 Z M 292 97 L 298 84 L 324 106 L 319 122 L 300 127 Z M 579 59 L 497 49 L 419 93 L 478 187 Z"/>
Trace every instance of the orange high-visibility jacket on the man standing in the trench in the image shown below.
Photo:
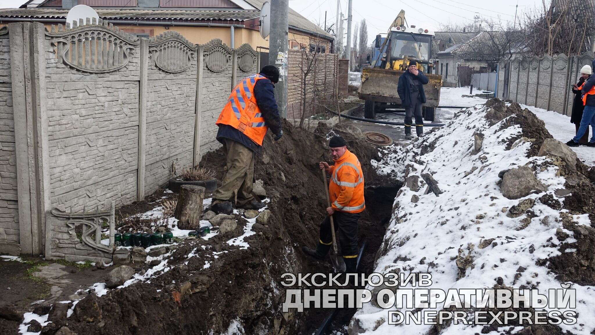
<path fill-rule="evenodd" d="M 347 213 L 364 211 L 364 174 L 358 158 L 347 150 L 330 168 L 328 192 L 331 206 L 336 211 Z"/>

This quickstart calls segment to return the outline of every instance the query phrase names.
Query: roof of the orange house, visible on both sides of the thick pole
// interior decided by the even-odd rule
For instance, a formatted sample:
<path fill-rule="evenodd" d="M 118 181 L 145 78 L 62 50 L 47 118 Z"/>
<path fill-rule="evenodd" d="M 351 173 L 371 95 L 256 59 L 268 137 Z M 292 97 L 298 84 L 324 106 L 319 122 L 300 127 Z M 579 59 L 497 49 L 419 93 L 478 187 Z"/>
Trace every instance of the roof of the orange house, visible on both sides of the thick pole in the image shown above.
<path fill-rule="evenodd" d="M 109 20 L 237 20 L 245 21 L 260 16 L 260 8 L 265 0 L 230 0 L 236 4 L 237 8 L 156 8 L 147 10 L 145 8 L 105 8 L 95 7 L 100 18 Z M 35 5 L 37 7 L 31 7 Z M 52 1 L 30 0 L 22 7 L 29 8 L 7 8 L 0 10 L 0 20 L 2 17 L 11 18 L 66 18 L 68 10 L 61 8 L 48 7 L 54 5 Z M 246 9 L 251 8 L 251 9 Z M 300 15 L 298 12 L 289 9 L 289 27 L 301 30 L 312 35 L 317 35 L 325 39 L 334 39 L 334 36 L 325 32 L 312 21 Z"/>

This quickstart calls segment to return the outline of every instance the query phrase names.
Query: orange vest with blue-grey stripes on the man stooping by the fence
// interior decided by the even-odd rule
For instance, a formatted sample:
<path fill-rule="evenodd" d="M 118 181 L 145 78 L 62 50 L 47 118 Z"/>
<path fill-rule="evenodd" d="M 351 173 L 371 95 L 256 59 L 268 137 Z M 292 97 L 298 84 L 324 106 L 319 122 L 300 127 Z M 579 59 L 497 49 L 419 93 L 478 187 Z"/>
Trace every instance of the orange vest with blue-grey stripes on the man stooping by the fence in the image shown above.
<path fill-rule="evenodd" d="M 254 85 L 258 80 L 267 79 L 260 74 L 254 74 L 231 90 L 227 104 L 215 124 L 227 124 L 248 136 L 254 143 L 262 145 L 268 127 L 254 98 Z"/>

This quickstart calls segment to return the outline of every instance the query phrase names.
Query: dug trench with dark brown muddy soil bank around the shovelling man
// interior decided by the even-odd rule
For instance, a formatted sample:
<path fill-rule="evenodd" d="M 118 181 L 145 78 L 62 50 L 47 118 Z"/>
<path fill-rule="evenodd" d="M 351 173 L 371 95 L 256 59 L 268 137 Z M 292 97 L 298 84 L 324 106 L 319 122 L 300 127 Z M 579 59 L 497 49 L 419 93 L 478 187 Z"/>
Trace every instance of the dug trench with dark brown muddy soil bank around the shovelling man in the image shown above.
<path fill-rule="evenodd" d="M 367 209 L 359 221 L 359 241 L 367 242 L 359 271 L 371 272 L 390 219 L 393 199 L 402 183 L 375 173 L 377 148 L 356 129 L 333 129 L 362 164 Z M 346 131 L 347 130 L 347 131 Z M 306 334 L 331 313 L 325 309 L 282 311 L 284 273 L 333 273 L 328 262 L 314 261 L 301 251 L 315 246 L 325 217 L 324 182 L 318 162 L 332 162 L 327 145 L 331 129 L 314 133 L 284 123 L 284 136 L 267 135 L 255 162 L 255 179 L 264 181 L 271 216 L 261 223 L 237 217 L 236 239 L 218 234 L 209 240 L 180 243 L 161 265 L 135 265 L 137 273 L 156 275 L 144 282 L 90 293 L 73 303 L 55 304 L 41 334 Z M 224 151 L 206 154 L 201 166 L 223 176 Z M 246 230 L 253 234 L 246 234 Z M 243 234 L 248 248 L 236 242 Z M 146 274 L 145 274 L 146 276 Z M 67 312 L 69 311 L 70 312 Z M 343 330 L 355 311 L 344 311 L 331 329 Z"/>

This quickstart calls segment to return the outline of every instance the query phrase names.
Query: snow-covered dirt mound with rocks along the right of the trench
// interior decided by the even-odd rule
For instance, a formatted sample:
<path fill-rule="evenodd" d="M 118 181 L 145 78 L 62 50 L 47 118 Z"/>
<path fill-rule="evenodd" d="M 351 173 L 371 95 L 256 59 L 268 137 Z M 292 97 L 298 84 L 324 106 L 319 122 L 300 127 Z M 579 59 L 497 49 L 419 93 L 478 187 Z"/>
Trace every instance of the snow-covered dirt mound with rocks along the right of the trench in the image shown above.
<path fill-rule="evenodd" d="M 379 173 L 398 173 L 399 168 L 386 167 L 404 167 L 400 177 L 405 186 L 394 201 L 375 272 L 431 275 L 428 287 L 409 283 L 389 287 L 393 292 L 537 289 L 548 295 L 550 289 L 568 287 L 558 294 L 575 294 L 576 299 L 567 308 L 562 299 L 521 308 L 550 312 L 546 324 L 519 323 L 518 317 L 503 321 L 503 314 L 501 321 L 478 324 L 478 311 L 497 315 L 520 309 L 483 308 L 475 297 L 462 294 L 462 303 L 471 306 L 446 308 L 443 297 L 430 295 L 435 308 L 416 304 L 383 309 L 375 302 L 376 293 L 387 286 L 368 285 L 372 302 L 356 312 L 350 334 L 595 334 L 595 186 L 585 177 L 588 168 L 552 139 L 543 121 L 518 104 L 491 99 L 459 112 L 403 152 L 387 152 L 382 158 L 376 164 Z M 429 317 L 419 323 L 389 323 L 397 321 L 389 311 L 420 312 L 424 318 L 424 312 L 441 310 L 465 311 L 469 324 L 436 324 Z M 559 317 L 559 322 L 552 316 L 568 311 L 574 314 Z M 491 319 L 488 315 L 486 320 Z"/>

